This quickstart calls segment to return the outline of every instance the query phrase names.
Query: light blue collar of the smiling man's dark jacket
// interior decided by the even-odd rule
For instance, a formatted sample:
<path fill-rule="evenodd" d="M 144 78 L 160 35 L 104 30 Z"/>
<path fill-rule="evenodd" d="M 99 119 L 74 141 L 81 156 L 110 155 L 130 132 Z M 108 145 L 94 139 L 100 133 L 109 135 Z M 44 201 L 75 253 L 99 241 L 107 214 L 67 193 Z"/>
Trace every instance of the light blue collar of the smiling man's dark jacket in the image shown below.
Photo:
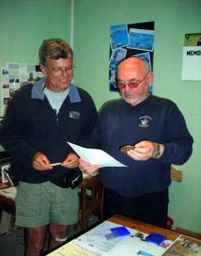
<path fill-rule="evenodd" d="M 43 92 L 43 84 L 47 81 L 47 78 L 44 77 L 39 81 L 35 82 L 35 85 L 32 88 L 32 99 L 44 100 L 45 94 Z M 80 93 L 76 88 L 76 85 L 70 83 L 69 85 L 69 100 L 71 103 L 80 102 Z"/>

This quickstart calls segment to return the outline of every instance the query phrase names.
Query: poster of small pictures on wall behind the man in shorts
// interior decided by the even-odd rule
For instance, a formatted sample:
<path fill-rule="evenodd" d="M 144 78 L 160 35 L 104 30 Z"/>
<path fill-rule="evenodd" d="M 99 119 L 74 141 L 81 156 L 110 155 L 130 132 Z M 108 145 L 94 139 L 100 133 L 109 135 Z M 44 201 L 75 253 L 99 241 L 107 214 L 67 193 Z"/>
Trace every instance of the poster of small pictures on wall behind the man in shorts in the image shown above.
<path fill-rule="evenodd" d="M 2 63 L 2 113 L 18 88 L 32 84 L 40 77 L 43 73 L 39 65 Z"/>

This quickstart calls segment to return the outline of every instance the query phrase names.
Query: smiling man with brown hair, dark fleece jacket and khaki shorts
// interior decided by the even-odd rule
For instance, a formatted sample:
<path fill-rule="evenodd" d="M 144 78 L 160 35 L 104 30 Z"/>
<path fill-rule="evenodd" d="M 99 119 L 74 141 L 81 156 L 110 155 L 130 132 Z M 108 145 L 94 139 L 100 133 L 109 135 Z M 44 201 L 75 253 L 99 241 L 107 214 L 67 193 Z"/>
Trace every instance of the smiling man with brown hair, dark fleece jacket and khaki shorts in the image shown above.
<path fill-rule="evenodd" d="M 16 224 L 26 228 L 26 256 L 39 256 L 50 229 L 50 249 L 68 238 L 78 218 L 78 156 L 66 141 L 84 145 L 97 119 L 95 104 L 73 79 L 73 51 L 64 40 L 44 40 L 39 51 L 45 77 L 20 88 L 11 100 L 0 141 L 13 157 L 19 181 Z"/>

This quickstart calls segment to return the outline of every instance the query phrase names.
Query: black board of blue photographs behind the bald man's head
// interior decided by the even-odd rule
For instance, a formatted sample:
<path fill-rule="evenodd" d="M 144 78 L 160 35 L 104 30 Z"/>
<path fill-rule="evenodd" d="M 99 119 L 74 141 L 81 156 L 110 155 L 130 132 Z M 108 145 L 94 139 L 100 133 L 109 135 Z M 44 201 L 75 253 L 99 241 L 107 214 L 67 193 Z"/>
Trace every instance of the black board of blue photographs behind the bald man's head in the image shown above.
<path fill-rule="evenodd" d="M 143 58 L 149 70 L 153 70 L 154 21 L 110 26 L 110 92 L 118 92 L 117 66 L 122 60 L 132 56 Z M 152 92 L 152 86 L 150 92 Z"/>

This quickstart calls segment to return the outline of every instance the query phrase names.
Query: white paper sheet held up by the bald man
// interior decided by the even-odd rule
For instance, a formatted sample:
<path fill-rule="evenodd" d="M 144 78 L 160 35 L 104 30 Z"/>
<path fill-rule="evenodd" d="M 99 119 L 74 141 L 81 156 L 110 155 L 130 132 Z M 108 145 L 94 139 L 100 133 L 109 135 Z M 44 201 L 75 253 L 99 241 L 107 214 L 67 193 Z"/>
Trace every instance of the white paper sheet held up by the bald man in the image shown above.
<path fill-rule="evenodd" d="M 114 159 L 108 153 L 101 149 L 86 149 L 79 145 L 73 144 L 69 141 L 67 143 L 72 149 L 86 162 L 90 164 L 97 164 L 99 168 L 103 167 L 127 167 L 125 164 L 121 164 L 119 161 Z"/>

